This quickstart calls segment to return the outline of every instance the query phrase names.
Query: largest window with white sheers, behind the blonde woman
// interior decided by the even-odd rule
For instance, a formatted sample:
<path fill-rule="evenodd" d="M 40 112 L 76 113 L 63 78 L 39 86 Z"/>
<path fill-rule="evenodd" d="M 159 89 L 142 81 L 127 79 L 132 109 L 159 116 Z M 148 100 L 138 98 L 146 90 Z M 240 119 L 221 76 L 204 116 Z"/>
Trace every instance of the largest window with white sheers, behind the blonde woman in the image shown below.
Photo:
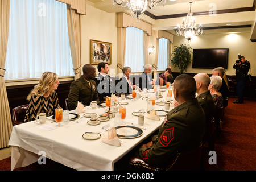
<path fill-rule="evenodd" d="M 11 0 L 9 26 L 5 80 L 74 75 L 65 3 Z"/>

